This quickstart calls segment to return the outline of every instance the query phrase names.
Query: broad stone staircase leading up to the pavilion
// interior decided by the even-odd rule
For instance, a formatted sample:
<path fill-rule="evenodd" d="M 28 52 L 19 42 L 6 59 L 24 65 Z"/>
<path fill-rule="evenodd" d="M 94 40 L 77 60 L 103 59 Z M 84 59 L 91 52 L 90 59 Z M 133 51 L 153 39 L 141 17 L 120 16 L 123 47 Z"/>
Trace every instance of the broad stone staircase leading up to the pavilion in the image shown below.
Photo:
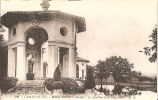
<path fill-rule="evenodd" d="M 20 81 L 9 92 L 15 94 L 46 94 L 43 82 L 44 80 Z"/>

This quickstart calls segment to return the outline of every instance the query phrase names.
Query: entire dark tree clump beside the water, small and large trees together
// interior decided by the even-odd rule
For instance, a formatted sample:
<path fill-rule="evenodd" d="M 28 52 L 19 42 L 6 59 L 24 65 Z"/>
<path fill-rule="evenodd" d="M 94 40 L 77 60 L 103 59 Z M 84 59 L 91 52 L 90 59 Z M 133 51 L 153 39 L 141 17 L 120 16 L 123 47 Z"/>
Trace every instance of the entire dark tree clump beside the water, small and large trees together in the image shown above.
<path fill-rule="evenodd" d="M 134 64 L 130 63 L 126 58 L 111 56 L 105 61 L 98 61 L 95 74 L 101 80 L 107 79 L 110 74 L 116 82 L 128 82 L 133 77 L 138 78 L 141 72 L 132 71 Z"/>

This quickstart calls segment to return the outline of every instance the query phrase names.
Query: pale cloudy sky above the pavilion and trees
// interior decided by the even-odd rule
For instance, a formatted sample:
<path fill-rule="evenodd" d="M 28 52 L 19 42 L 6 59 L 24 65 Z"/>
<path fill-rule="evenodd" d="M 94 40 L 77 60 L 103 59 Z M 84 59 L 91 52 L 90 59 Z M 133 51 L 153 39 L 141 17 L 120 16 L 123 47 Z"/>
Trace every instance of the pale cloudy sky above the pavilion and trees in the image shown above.
<path fill-rule="evenodd" d="M 1 0 L 1 14 L 7 11 L 42 11 L 42 0 Z M 157 73 L 157 64 L 138 51 L 151 46 L 149 35 L 157 24 L 157 0 L 52 0 L 49 10 L 81 16 L 86 31 L 77 34 L 78 56 L 90 65 L 111 56 L 127 58 L 134 70 Z M 6 29 L 7 30 L 7 29 Z M 0 33 L 5 35 L 7 31 Z"/>

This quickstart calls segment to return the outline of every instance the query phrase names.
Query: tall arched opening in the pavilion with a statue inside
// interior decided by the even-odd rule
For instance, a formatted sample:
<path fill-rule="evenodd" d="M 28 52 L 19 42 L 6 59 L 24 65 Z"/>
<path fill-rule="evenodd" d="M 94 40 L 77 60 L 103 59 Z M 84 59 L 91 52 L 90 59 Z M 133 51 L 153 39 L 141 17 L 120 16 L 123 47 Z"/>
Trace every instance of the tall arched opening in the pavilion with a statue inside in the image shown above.
<path fill-rule="evenodd" d="M 26 33 L 26 55 L 27 55 L 27 79 L 28 74 L 32 74 L 33 79 L 41 79 L 43 63 L 41 62 L 42 44 L 48 40 L 48 34 L 43 28 L 32 28 Z M 29 58 L 34 55 L 34 60 Z M 30 63 L 31 61 L 31 63 Z M 32 67 L 30 67 L 32 66 Z M 30 74 L 30 75 L 31 75 Z M 45 74 L 46 76 L 46 74 Z M 31 78 L 31 79 L 32 79 Z"/>

